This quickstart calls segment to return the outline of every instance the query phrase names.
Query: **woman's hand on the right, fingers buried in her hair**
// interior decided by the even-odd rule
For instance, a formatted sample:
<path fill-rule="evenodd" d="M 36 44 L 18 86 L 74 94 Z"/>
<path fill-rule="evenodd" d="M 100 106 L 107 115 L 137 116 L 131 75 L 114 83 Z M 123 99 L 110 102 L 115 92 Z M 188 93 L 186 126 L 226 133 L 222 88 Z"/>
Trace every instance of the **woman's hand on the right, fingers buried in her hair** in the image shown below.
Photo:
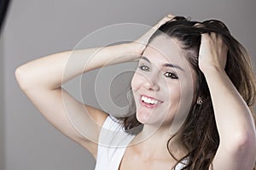
<path fill-rule="evenodd" d="M 201 34 L 198 65 L 204 74 L 212 68 L 224 71 L 227 54 L 228 48 L 221 35 L 215 32 Z"/>

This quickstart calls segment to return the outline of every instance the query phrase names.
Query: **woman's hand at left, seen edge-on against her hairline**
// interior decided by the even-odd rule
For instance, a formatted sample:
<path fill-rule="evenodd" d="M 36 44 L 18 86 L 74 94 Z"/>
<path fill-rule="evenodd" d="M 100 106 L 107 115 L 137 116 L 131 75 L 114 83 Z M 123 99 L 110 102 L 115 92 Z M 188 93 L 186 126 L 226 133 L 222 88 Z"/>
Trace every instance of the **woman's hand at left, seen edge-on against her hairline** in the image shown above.
<path fill-rule="evenodd" d="M 168 14 L 162 18 L 155 26 L 151 27 L 142 37 L 138 38 L 137 41 L 132 42 L 135 45 L 138 55 L 143 54 L 144 48 L 148 44 L 149 38 L 157 31 L 160 26 L 164 25 L 167 21 L 172 20 L 175 16 L 173 14 Z"/>

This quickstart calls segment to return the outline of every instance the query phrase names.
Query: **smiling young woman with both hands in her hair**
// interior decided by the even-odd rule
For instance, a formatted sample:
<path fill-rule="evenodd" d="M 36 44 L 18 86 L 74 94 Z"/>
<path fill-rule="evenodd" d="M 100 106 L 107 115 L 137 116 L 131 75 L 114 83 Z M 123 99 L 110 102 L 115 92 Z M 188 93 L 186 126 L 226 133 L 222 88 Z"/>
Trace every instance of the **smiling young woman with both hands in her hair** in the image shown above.
<path fill-rule="evenodd" d="M 114 118 L 61 88 L 86 71 L 136 59 L 129 116 Z M 246 50 L 218 20 L 169 14 L 136 42 L 52 54 L 15 76 L 46 119 L 90 151 L 98 170 L 254 167 L 255 77 Z"/>

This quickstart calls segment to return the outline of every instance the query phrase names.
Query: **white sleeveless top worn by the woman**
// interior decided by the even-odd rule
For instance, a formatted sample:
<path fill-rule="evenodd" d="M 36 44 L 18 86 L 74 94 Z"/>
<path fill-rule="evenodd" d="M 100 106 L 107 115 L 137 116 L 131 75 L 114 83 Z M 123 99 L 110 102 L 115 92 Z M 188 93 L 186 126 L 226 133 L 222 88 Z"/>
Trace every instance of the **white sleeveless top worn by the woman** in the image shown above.
<path fill-rule="evenodd" d="M 108 116 L 103 123 L 99 135 L 97 160 L 95 170 L 118 170 L 125 150 L 135 135 L 125 133 L 120 121 L 113 116 Z M 175 170 L 182 169 L 180 163 Z"/>

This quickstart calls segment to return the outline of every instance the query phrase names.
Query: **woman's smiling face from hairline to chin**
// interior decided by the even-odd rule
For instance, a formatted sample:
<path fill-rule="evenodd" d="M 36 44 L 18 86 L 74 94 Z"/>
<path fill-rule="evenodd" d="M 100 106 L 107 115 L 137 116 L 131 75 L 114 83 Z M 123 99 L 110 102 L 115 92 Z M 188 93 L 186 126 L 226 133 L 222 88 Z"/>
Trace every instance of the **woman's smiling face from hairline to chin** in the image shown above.
<path fill-rule="evenodd" d="M 159 126 L 181 125 L 189 113 L 195 82 L 195 71 L 177 39 L 155 37 L 145 48 L 131 81 L 137 120 Z"/>

